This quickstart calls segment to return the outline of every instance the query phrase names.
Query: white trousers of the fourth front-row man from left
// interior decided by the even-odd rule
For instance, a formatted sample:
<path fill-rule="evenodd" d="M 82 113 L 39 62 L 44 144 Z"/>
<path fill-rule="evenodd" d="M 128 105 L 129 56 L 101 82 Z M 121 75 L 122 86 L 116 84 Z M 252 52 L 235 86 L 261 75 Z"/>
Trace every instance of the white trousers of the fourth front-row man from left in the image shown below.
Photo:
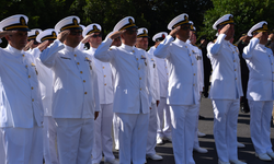
<path fill-rule="evenodd" d="M 198 105 L 171 105 L 172 145 L 176 164 L 195 164 L 192 151 Z"/>

